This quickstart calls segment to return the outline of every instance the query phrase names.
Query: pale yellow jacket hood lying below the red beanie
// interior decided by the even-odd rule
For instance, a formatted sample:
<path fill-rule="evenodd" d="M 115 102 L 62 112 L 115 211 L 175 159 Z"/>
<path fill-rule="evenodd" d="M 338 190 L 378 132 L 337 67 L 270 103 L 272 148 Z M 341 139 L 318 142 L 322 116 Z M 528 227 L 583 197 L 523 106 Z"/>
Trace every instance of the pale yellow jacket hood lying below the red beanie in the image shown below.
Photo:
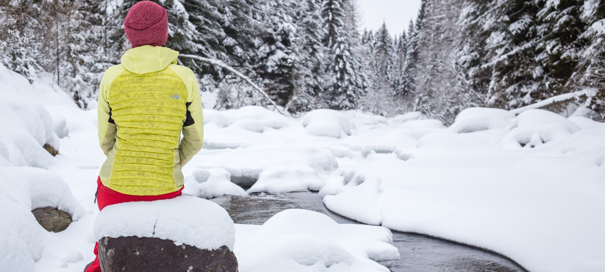
<path fill-rule="evenodd" d="M 126 51 L 122 56 L 122 66 L 136 74 L 162 71 L 171 63 L 177 64 L 178 51 L 166 47 L 143 45 Z"/>

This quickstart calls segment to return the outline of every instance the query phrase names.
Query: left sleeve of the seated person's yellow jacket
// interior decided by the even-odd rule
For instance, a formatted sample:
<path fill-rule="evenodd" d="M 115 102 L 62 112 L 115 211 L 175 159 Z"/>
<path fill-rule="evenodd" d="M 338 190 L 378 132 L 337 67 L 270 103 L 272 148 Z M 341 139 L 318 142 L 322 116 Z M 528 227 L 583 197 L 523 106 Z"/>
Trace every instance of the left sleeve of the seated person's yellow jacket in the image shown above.
<path fill-rule="evenodd" d="M 109 155 L 111 149 L 113 149 L 114 143 L 116 143 L 116 123 L 111 118 L 111 108 L 108 102 L 108 92 L 111 87 L 113 80 L 122 73 L 123 68 L 118 65 L 109 68 L 103 74 L 101 79 L 101 85 L 99 87 L 99 100 L 97 103 L 97 115 L 99 122 L 99 144 L 103 153 L 106 156 Z"/>

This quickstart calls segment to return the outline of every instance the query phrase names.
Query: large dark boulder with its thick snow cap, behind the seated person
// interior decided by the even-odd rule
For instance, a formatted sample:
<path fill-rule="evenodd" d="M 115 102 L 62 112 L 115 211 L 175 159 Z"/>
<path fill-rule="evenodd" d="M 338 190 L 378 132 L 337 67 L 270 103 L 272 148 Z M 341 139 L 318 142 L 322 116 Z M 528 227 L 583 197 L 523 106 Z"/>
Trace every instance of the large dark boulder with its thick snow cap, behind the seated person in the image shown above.
<path fill-rule="evenodd" d="M 235 227 L 222 207 L 178 196 L 105 207 L 94 222 L 103 272 L 237 272 Z"/>

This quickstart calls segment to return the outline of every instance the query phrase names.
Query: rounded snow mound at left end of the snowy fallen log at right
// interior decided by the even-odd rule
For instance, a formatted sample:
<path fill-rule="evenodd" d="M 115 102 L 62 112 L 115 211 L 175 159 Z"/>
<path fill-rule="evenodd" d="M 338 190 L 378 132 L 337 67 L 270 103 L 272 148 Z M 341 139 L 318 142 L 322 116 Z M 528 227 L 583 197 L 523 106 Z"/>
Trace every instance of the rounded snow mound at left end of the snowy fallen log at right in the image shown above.
<path fill-rule="evenodd" d="M 505 109 L 468 108 L 456 116 L 450 131 L 466 133 L 506 128 L 515 118 L 515 114 Z"/>

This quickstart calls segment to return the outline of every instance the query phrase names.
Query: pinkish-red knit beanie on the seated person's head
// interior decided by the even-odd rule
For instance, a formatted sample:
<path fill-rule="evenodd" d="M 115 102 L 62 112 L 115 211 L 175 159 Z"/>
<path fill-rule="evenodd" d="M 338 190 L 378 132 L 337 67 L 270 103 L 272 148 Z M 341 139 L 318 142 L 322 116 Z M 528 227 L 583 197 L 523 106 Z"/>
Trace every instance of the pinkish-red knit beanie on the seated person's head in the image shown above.
<path fill-rule="evenodd" d="M 132 48 L 143 45 L 161 47 L 168 40 L 168 13 L 154 2 L 138 2 L 128 11 L 124 30 Z"/>

